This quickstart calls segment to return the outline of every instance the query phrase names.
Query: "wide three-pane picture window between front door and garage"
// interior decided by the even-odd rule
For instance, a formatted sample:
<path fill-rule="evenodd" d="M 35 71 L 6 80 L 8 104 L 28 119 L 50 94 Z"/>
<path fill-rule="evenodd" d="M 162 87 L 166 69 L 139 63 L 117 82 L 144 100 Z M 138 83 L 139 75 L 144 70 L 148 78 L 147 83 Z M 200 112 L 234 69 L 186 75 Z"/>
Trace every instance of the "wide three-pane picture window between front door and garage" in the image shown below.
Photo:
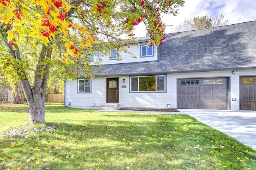
<path fill-rule="evenodd" d="M 166 76 L 130 77 L 131 92 L 165 92 Z"/>

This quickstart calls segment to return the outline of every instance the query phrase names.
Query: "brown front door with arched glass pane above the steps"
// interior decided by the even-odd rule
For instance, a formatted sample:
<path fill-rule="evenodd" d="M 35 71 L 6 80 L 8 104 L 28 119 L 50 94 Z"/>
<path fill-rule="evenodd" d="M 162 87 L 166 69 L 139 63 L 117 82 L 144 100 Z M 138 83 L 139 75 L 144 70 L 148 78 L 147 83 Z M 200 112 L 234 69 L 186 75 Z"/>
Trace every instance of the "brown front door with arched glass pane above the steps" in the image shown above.
<path fill-rule="evenodd" d="M 107 103 L 118 103 L 118 78 L 107 78 Z"/>

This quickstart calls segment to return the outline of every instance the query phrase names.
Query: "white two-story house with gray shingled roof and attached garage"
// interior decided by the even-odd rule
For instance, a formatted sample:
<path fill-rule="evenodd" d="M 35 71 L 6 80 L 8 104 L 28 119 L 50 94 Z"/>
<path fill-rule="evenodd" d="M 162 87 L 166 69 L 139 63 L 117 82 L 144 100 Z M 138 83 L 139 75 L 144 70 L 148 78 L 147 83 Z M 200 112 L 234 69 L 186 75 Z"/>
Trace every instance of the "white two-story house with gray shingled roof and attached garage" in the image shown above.
<path fill-rule="evenodd" d="M 103 75 L 65 82 L 64 104 L 256 110 L 256 21 L 170 33 L 160 47 L 130 44 L 137 58 L 113 50 Z M 96 57 L 95 57 L 96 58 Z"/>

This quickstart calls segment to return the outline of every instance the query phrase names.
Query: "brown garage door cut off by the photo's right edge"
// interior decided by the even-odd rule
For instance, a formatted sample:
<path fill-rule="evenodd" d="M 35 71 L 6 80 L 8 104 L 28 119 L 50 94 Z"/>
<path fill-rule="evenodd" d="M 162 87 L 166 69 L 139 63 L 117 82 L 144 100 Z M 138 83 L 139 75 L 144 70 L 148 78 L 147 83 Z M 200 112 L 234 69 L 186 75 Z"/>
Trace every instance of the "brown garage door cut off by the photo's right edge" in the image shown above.
<path fill-rule="evenodd" d="M 240 110 L 256 110 L 256 76 L 241 77 Z"/>

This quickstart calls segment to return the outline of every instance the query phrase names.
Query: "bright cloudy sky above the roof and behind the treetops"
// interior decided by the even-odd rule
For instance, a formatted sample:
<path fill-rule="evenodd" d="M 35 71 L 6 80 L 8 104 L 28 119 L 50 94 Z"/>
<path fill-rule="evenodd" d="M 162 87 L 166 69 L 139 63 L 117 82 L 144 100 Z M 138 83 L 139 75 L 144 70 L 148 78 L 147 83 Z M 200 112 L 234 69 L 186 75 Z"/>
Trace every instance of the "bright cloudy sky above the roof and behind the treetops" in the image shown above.
<path fill-rule="evenodd" d="M 256 20 L 256 0 L 184 0 L 184 6 L 179 8 L 177 16 L 164 16 L 163 21 L 166 25 L 166 33 L 170 33 L 172 27 L 178 26 L 188 18 L 192 19 L 198 16 L 224 15 L 224 20 L 228 20 L 228 24 L 242 23 L 246 21 Z M 136 36 L 142 37 L 145 33 L 143 25 L 138 25 Z M 143 36 L 146 36 L 143 35 Z"/>

